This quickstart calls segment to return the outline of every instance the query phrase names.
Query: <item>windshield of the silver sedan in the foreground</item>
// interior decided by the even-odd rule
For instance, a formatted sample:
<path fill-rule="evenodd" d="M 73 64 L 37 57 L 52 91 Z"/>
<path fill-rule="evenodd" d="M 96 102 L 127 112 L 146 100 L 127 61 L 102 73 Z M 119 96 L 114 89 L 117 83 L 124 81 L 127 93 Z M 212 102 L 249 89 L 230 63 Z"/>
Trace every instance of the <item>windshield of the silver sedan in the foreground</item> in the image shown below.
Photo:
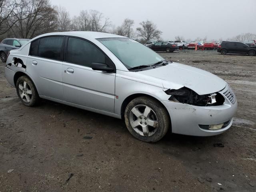
<path fill-rule="evenodd" d="M 164 60 L 152 49 L 133 39 L 101 38 L 97 40 L 106 46 L 128 69 L 141 65 L 152 65 Z"/>

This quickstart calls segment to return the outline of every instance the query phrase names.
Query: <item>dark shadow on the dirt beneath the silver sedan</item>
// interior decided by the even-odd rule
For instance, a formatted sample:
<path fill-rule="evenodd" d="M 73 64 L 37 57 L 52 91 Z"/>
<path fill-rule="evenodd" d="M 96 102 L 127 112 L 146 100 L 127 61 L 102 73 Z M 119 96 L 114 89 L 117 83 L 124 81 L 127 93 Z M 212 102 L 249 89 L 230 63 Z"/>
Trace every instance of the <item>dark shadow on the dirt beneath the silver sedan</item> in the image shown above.
<path fill-rule="evenodd" d="M 55 111 L 65 111 L 66 114 L 68 114 L 70 119 L 76 119 L 77 121 L 84 120 L 85 122 L 91 122 L 92 129 L 105 129 L 105 128 L 112 128 L 111 130 L 114 132 L 119 132 L 120 134 L 123 134 L 122 136 L 124 138 L 131 139 L 131 134 L 127 130 L 126 125 L 124 123 L 124 120 L 113 118 L 110 116 L 106 116 L 103 114 L 98 114 L 95 112 L 90 112 L 88 110 L 83 110 L 80 108 L 75 108 L 72 106 L 68 106 L 65 104 L 60 104 L 57 102 L 53 102 L 50 100 L 42 100 L 42 104 L 38 106 L 39 108 L 42 108 L 43 110 L 55 110 Z M 93 124 L 96 123 L 95 127 Z M 102 126 L 98 126 L 98 124 L 102 124 Z M 111 131 L 108 130 L 108 131 Z M 76 131 L 76 129 L 74 130 Z M 102 131 L 102 130 L 99 130 Z M 224 133 L 225 134 L 225 133 Z M 138 142 L 141 142 L 137 140 Z M 181 135 L 181 134 L 173 134 L 171 132 L 171 129 L 167 132 L 167 134 L 162 138 L 160 141 L 154 143 L 154 144 L 160 144 L 160 145 L 172 145 L 172 146 L 188 146 L 188 148 L 193 148 L 198 146 L 205 146 L 208 144 L 211 144 L 213 146 L 214 143 L 221 142 L 221 136 L 209 136 L 209 137 L 199 137 L 199 136 L 187 136 L 187 135 Z"/>

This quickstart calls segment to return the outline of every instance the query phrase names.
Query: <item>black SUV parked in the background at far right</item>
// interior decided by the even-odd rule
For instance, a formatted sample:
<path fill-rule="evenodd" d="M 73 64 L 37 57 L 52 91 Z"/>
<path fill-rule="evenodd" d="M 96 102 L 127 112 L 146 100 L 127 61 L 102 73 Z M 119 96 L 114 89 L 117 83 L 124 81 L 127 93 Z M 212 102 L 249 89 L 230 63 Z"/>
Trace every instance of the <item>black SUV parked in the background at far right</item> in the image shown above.
<path fill-rule="evenodd" d="M 244 43 L 235 41 L 222 41 L 218 46 L 217 51 L 223 55 L 227 53 L 236 53 L 254 56 L 256 54 L 256 48 L 252 48 Z"/>

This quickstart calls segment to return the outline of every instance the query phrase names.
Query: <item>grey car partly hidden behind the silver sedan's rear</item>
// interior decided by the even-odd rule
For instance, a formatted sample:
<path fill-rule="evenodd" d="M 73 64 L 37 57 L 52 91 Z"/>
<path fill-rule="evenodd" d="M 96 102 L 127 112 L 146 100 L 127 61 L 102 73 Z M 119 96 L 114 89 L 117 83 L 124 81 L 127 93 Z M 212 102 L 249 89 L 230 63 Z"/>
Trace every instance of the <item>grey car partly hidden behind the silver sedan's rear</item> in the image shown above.
<path fill-rule="evenodd" d="M 6 57 L 10 50 L 18 49 L 26 44 L 30 39 L 6 38 L 0 43 L 0 58 L 2 62 L 6 62 Z"/>

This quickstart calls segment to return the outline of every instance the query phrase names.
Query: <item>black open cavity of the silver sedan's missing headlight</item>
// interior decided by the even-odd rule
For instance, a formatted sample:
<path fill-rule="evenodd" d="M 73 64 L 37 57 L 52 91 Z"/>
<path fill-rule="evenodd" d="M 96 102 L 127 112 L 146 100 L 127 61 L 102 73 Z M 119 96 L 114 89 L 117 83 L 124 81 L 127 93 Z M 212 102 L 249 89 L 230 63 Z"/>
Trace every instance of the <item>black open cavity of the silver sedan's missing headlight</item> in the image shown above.
<path fill-rule="evenodd" d="M 196 92 L 187 87 L 180 89 L 168 89 L 164 91 L 171 95 L 169 100 L 174 102 L 186 103 L 195 106 L 218 106 L 224 104 L 224 97 L 216 92 L 206 95 L 198 95 Z"/>

